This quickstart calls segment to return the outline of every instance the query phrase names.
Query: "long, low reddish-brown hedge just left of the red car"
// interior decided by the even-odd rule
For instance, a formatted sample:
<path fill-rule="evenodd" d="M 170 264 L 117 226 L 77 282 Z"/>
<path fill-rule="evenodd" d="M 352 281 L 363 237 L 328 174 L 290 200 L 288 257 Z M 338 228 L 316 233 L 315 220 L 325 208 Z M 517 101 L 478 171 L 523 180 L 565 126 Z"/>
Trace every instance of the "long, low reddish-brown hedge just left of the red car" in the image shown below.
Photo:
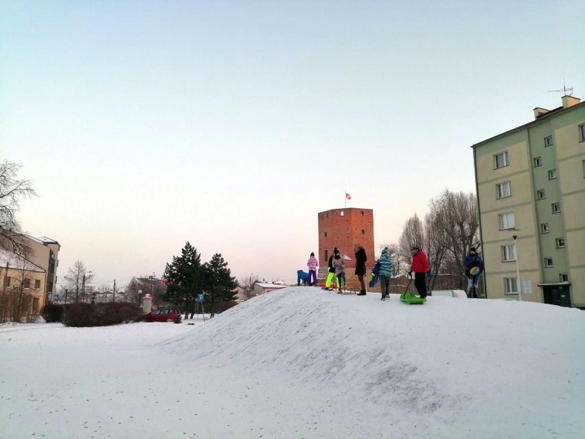
<path fill-rule="evenodd" d="M 62 317 L 65 326 L 109 326 L 137 322 L 141 310 L 136 305 L 124 303 L 71 304 Z"/>

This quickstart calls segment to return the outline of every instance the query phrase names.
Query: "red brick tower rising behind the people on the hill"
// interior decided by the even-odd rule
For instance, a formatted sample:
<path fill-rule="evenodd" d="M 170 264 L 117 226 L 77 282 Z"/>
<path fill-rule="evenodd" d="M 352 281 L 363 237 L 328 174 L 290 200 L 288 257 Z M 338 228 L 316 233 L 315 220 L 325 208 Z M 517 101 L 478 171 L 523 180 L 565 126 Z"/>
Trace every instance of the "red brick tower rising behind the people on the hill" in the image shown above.
<path fill-rule="evenodd" d="M 367 255 L 366 268 L 376 260 L 374 254 L 374 211 L 349 207 L 332 209 L 317 214 L 319 224 L 319 264 L 327 267 L 334 247 L 349 256 L 347 274 L 353 274 L 356 266 L 354 244 L 361 244 Z"/>

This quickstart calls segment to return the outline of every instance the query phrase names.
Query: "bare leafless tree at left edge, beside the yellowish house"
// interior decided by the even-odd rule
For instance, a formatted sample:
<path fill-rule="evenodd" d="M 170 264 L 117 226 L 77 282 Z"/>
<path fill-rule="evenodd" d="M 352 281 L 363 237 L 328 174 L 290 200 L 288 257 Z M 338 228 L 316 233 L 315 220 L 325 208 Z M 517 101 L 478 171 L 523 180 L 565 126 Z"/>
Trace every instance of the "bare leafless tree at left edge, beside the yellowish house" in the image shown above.
<path fill-rule="evenodd" d="M 22 165 L 8 160 L 0 162 L 0 248 L 23 254 L 28 250 L 21 236 L 21 225 L 14 212 L 19 200 L 36 196 L 30 180 L 19 180 Z"/>

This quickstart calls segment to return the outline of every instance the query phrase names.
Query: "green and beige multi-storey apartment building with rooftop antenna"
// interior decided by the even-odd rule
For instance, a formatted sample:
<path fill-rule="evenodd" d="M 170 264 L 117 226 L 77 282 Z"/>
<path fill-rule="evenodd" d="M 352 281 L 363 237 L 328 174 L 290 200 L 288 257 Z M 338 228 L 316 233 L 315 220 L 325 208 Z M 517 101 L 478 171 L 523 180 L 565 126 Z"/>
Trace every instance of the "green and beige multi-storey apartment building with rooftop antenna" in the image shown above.
<path fill-rule="evenodd" d="M 472 148 L 488 298 L 585 308 L 585 102 Z"/>

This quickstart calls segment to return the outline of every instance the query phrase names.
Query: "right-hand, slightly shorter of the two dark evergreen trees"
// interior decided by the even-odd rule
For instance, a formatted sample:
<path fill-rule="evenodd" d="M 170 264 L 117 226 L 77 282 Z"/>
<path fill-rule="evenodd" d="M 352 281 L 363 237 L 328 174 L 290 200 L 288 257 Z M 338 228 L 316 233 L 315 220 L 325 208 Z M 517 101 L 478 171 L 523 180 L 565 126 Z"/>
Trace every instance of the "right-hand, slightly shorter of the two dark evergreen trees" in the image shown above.
<path fill-rule="evenodd" d="M 214 254 L 209 262 L 205 262 L 203 272 L 205 301 L 210 306 L 210 317 L 214 317 L 215 304 L 236 299 L 236 293 L 233 292 L 233 289 L 238 286 L 238 281 L 232 277 L 231 271 L 227 268 L 227 262 L 218 253 Z"/>

